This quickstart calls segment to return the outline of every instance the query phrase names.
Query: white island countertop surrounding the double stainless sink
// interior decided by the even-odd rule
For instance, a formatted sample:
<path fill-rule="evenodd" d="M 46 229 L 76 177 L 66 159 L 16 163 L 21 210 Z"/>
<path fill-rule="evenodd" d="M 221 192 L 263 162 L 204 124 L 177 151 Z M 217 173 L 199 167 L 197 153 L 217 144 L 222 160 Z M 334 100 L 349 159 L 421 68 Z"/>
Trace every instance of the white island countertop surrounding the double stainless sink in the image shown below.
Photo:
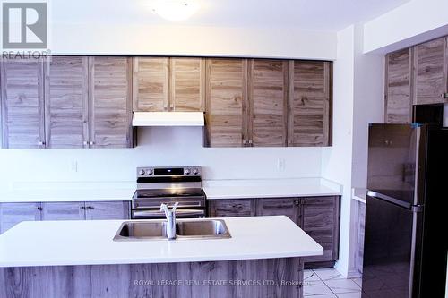
<path fill-rule="evenodd" d="M 113 241 L 123 220 L 22 222 L 0 235 L 0 267 L 252 260 L 323 254 L 323 247 L 288 217 L 223 219 L 231 238 L 128 242 Z"/>

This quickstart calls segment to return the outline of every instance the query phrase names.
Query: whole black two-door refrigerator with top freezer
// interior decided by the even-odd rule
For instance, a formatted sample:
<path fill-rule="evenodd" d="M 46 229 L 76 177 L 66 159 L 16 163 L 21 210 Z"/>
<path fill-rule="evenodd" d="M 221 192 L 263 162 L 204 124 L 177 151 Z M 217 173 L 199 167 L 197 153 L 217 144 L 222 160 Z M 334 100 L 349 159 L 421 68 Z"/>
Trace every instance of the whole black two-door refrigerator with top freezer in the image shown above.
<path fill-rule="evenodd" d="M 448 129 L 370 124 L 362 297 L 444 297 Z"/>

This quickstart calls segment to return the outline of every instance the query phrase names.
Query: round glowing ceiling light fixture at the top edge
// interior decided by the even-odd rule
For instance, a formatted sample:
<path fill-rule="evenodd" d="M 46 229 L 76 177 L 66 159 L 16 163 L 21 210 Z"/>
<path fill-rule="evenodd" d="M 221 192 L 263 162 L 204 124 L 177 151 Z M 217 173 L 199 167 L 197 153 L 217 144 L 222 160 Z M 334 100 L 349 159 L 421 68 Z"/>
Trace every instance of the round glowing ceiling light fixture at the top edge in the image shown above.
<path fill-rule="evenodd" d="M 192 0 L 156 0 L 152 11 L 168 21 L 185 21 L 199 9 Z"/>

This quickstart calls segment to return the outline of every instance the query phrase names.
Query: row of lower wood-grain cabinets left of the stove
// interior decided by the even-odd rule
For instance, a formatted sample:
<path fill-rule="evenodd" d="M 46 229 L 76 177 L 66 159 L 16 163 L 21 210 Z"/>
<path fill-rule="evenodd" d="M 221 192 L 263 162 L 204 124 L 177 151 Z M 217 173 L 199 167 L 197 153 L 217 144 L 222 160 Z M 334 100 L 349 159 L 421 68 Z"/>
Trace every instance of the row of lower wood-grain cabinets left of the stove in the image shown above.
<path fill-rule="evenodd" d="M 22 221 L 129 217 L 129 201 L 0 203 L 0 234 Z"/>

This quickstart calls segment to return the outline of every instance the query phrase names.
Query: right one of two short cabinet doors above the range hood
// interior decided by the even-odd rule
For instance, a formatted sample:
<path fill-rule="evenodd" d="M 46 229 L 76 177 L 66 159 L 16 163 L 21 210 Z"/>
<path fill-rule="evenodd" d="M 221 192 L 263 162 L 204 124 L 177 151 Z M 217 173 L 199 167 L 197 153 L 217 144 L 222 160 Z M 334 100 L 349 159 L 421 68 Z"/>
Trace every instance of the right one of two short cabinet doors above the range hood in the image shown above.
<path fill-rule="evenodd" d="M 203 112 L 205 105 L 205 60 L 169 58 L 169 110 Z"/>

